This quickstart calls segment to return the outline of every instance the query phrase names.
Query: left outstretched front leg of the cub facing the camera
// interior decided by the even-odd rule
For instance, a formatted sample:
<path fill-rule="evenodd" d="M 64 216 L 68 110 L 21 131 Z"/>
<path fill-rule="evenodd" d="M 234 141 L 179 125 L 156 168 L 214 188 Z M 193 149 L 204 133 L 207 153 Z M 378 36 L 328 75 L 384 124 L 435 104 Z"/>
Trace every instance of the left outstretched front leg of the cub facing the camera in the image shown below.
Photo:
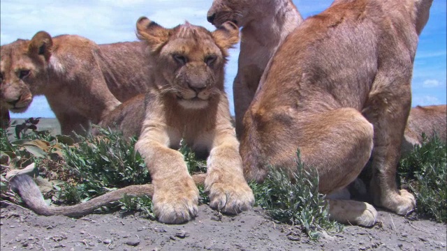
<path fill-rule="evenodd" d="M 169 149 L 166 128 L 145 124 L 135 149 L 145 158 L 154 184 L 154 213 L 160 222 L 179 224 L 197 215 L 198 189 L 182 153 Z"/>

